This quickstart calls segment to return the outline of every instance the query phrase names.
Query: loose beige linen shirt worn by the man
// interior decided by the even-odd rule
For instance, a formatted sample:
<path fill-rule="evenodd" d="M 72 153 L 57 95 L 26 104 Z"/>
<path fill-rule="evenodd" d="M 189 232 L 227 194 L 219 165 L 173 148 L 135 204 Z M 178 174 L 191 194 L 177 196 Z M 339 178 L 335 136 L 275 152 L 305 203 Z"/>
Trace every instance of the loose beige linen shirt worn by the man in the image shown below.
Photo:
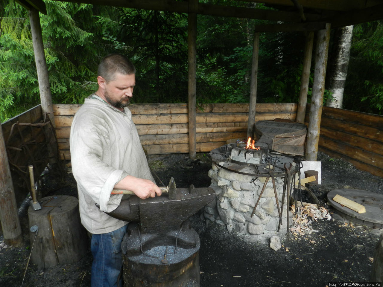
<path fill-rule="evenodd" d="M 105 213 L 121 202 L 122 194 L 110 194 L 121 179 L 132 175 L 154 182 L 132 113 L 128 108 L 124 112 L 99 99 L 87 98 L 70 129 L 70 156 L 79 192 L 80 217 L 90 233 L 112 232 L 127 223 Z"/>

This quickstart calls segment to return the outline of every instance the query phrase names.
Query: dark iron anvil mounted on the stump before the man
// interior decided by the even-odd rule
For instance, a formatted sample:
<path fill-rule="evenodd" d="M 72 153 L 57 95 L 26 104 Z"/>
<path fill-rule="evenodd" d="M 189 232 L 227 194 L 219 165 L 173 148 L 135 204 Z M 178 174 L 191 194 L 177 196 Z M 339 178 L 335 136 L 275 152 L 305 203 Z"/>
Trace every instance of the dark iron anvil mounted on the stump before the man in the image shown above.
<path fill-rule="evenodd" d="M 179 230 L 186 219 L 214 197 L 212 188 L 177 188 L 176 199 L 170 200 L 166 195 L 145 200 L 131 196 L 108 214 L 120 220 L 139 222 L 141 233 L 165 234 Z"/>

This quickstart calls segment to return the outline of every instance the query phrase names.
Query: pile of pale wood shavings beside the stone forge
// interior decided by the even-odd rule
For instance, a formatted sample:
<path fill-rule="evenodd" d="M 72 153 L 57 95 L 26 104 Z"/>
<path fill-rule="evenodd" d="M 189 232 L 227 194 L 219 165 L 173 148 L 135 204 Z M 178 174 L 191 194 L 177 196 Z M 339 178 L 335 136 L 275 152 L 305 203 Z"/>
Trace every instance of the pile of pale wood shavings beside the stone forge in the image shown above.
<path fill-rule="evenodd" d="M 293 206 L 293 210 L 295 210 Z M 309 219 L 311 217 L 311 219 Z M 318 222 L 318 219 L 331 219 L 331 215 L 327 209 L 324 207 L 316 207 L 314 204 L 308 204 L 304 207 L 298 207 L 297 214 L 293 215 L 293 225 L 290 228 L 291 233 L 295 237 L 298 235 L 304 236 L 305 234 L 311 234 L 313 232 L 318 232 L 314 230 L 310 224 L 315 220 Z M 315 242 L 315 241 L 314 241 Z M 313 243 L 314 244 L 314 243 Z"/>

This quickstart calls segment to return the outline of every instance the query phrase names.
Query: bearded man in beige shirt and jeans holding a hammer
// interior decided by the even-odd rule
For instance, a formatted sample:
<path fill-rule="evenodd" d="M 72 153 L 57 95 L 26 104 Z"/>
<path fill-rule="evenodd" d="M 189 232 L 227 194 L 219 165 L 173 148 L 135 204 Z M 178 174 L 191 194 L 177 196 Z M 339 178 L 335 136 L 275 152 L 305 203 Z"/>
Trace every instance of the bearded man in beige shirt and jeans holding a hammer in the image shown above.
<path fill-rule="evenodd" d="M 122 267 L 121 241 L 128 222 L 105 213 L 121 202 L 122 195 L 111 195 L 112 189 L 131 190 L 141 199 L 161 195 L 127 108 L 135 72 L 123 55 L 111 54 L 101 60 L 98 90 L 85 99 L 70 130 L 81 222 L 92 233 L 92 287 L 117 286 Z"/>

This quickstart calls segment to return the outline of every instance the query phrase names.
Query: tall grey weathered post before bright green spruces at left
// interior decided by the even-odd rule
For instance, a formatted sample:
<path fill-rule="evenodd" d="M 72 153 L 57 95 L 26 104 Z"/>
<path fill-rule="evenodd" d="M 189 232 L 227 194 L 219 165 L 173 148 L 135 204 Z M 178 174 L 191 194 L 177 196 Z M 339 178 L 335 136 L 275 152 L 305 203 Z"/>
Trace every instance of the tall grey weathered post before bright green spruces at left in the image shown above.
<path fill-rule="evenodd" d="M 41 35 L 41 25 L 39 11 L 32 8 L 29 10 L 29 21 L 31 23 L 31 34 L 33 43 L 34 60 L 36 62 L 37 78 L 39 81 L 41 110 L 43 116 L 49 117 L 53 128 L 56 126 L 54 122 L 54 111 L 52 104 L 51 86 L 49 85 L 49 75 L 47 63 L 45 60 L 43 36 Z M 54 134 L 51 126 L 46 125 L 46 134 Z M 57 143 L 55 137 L 50 137 L 50 144 L 48 145 L 49 162 L 56 163 Z"/>

